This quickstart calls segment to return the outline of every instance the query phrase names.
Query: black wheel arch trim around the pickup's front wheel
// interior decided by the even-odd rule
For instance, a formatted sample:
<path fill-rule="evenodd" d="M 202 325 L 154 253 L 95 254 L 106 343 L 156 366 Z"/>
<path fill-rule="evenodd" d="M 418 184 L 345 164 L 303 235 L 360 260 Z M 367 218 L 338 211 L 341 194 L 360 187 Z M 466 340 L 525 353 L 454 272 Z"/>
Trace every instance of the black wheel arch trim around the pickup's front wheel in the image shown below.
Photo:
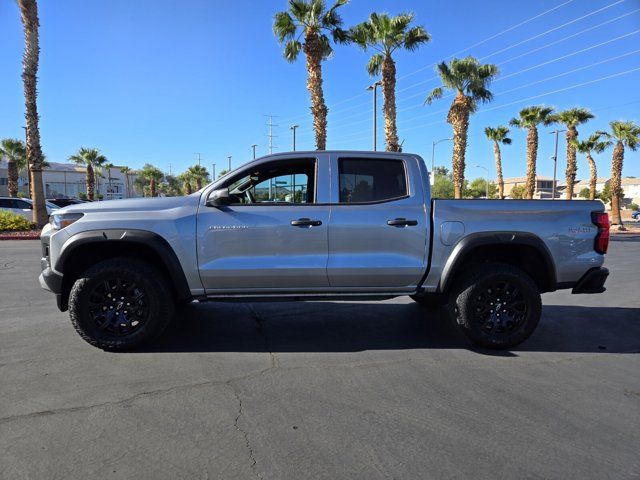
<path fill-rule="evenodd" d="M 145 230 L 91 230 L 67 240 L 54 265 L 55 270 L 63 274 L 61 310 L 68 308 L 71 287 L 83 271 L 115 257 L 148 261 L 165 275 L 176 301 L 191 298 L 180 260 L 163 237 Z"/>

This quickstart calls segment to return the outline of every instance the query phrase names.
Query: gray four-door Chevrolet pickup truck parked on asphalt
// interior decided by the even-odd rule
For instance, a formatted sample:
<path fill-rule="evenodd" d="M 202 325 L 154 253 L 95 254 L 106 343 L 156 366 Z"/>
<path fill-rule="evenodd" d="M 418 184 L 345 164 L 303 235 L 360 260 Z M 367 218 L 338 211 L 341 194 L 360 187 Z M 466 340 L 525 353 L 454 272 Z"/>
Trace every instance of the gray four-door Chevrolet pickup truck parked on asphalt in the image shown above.
<path fill-rule="evenodd" d="M 193 300 L 402 295 L 510 348 L 536 328 L 541 293 L 604 291 L 608 242 L 599 201 L 437 200 L 418 155 L 293 152 L 185 197 L 58 210 L 40 282 L 107 350 L 150 341 Z"/>

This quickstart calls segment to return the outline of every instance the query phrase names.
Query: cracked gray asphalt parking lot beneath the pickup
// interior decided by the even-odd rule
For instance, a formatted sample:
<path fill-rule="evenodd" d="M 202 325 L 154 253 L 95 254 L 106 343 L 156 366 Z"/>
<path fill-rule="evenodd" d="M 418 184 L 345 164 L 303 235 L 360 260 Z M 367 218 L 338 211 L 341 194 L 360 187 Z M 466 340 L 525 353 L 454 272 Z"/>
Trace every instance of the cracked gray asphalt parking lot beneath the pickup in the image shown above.
<path fill-rule="evenodd" d="M 510 352 L 398 299 L 194 304 L 105 353 L 0 242 L 0 478 L 638 478 L 640 239 L 606 266 Z"/>

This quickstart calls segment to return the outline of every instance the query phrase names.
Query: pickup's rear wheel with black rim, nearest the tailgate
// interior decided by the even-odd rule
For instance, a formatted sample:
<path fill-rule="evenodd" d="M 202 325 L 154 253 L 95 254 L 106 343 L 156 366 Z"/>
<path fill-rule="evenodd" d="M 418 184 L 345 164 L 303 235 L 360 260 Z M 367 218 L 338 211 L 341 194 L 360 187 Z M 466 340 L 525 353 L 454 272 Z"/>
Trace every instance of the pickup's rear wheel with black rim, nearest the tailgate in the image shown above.
<path fill-rule="evenodd" d="M 540 292 L 512 265 L 483 265 L 460 278 L 452 292 L 452 315 L 476 345 L 507 349 L 524 342 L 542 313 Z"/>

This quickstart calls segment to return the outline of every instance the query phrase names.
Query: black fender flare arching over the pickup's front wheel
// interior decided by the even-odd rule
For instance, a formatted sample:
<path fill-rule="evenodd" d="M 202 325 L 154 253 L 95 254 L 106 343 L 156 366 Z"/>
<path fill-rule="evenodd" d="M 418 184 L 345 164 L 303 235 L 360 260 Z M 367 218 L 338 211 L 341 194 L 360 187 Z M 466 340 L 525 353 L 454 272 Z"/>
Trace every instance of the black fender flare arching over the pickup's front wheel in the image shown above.
<path fill-rule="evenodd" d="M 157 233 L 147 230 L 100 229 L 80 232 L 63 244 L 53 268 L 64 275 L 65 262 L 72 257 L 78 247 L 88 244 L 97 246 L 104 243 L 133 243 L 152 249 L 160 257 L 163 266 L 169 273 L 168 280 L 173 285 L 178 300 L 186 300 L 192 296 L 180 260 L 171 245 Z"/>

